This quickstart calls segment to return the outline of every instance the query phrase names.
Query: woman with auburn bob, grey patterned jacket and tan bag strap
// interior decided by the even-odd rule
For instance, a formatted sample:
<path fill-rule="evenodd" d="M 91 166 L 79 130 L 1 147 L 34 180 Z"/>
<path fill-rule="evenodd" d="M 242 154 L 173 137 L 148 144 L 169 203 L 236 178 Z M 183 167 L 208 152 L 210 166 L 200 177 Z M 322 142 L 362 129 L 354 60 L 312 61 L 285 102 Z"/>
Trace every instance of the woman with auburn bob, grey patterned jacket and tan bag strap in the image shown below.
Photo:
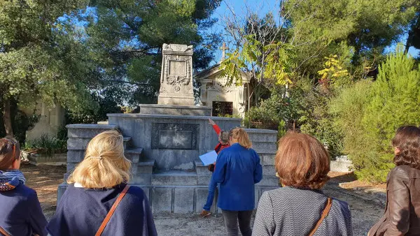
<path fill-rule="evenodd" d="M 262 193 L 252 235 L 352 235 L 347 203 L 320 190 L 330 171 L 321 142 L 287 133 L 279 141 L 275 165 L 283 188 Z"/>

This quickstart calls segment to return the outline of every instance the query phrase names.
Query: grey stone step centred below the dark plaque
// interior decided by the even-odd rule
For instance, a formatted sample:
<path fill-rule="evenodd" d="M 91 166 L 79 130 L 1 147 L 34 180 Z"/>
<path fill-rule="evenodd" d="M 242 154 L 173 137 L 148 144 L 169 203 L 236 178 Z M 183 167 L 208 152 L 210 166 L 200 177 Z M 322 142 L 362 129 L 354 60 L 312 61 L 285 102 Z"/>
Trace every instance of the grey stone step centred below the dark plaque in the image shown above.
<path fill-rule="evenodd" d="M 197 174 L 183 170 L 169 170 L 158 172 L 152 175 L 151 184 L 153 186 L 194 186 L 197 185 Z"/>

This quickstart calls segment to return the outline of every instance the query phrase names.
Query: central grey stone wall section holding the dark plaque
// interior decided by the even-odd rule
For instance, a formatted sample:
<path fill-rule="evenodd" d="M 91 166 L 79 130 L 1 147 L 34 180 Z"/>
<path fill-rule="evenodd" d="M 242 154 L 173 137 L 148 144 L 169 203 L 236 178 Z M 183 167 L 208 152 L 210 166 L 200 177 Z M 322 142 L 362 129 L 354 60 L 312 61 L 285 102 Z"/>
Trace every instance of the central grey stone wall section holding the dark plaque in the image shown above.
<path fill-rule="evenodd" d="M 209 125 L 209 117 L 142 114 L 108 116 L 109 124 L 119 126 L 124 135 L 132 138 L 134 147 L 143 148 L 145 156 L 155 159 L 160 170 L 194 171 L 197 157 L 214 149 L 218 143 L 218 137 Z M 241 124 L 241 119 L 211 119 L 223 130 L 230 130 Z M 171 140 L 170 135 L 177 137 Z M 179 140 L 183 141 L 178 143 Z"/>

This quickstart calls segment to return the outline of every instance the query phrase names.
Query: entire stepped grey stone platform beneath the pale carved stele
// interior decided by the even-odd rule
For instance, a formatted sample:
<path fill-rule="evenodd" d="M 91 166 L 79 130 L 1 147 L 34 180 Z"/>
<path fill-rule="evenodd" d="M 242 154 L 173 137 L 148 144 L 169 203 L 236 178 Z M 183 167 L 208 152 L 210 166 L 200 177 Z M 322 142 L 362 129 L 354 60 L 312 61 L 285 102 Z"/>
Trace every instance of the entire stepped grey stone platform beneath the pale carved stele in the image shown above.
<path fill-rule="evenodd" d="M 198 156 L 210 152 L 218 143 L 208 119 L 213 119 L 223 130 L 241 124 L 241 119 L 193 115 L 141 113 L 108 117 L 108 124 L 67 126 L 67 173 L 59 186 L 58 199 L 66 189 L 69 173 L 83 160 L 87 143 L 98 133 L 116 129 L 123 133 L 125 156 L 132 161 L 130 184 L 144 189 L 153 213 L 200 212 L 207 199 L 211 172 Z M 274 170 L 277 132 L 260 129 L 246 129 L 246 132 L 261 158 L 263 178 L 255 184 L 255 202 L 258 202 L 263 191 L 279 187 Z M 214 203 L 216 206 L 217 193 Z M 218 212 L 216 208 L 211 211 Z"/>

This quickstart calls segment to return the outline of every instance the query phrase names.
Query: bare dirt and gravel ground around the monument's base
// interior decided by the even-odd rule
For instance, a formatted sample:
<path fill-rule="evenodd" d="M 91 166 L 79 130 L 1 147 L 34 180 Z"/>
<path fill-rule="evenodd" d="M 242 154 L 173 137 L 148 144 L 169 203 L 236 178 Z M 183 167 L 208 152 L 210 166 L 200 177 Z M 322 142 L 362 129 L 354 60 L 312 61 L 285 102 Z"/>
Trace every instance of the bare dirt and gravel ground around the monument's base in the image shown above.
<path fill-rule="evenodd" d="M 45 216 L 54 214 L 57 201 L 57 186 L 62 183 L 66 172 L 65 166 L 22 165 L 22 172 L 27 178 L 27 186 L 38 193 Z M 375 195 L 353 191 L 357 188 L 385 189 L 384 185 L 370 185 L 356 180 L 351 173 L 330 173 L 331 180 L 323 191 L 328 195 L 349 203 L 351 209 L 353 235 L 367 235 L 367 231 L 384 212 L 383 201 Z M 345 183 L 345 184 L 343 184 Z M 158 235 L 171 236 L 208 236 L 225 235 L 224 221 L 221 214 L 205 219 L 197 214 L 156 214 L 154 216 Z"/>

